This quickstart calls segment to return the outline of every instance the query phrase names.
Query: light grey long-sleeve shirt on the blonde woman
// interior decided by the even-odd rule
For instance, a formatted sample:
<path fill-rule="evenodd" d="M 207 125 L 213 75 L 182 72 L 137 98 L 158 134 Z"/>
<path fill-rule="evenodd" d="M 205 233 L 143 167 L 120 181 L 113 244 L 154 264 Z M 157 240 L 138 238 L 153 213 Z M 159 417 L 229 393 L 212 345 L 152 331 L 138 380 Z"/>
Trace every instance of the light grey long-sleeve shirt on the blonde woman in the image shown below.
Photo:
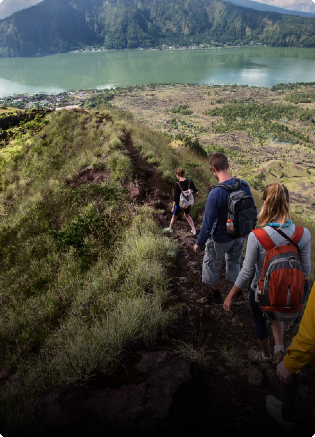
<path fill-rule="evenodd" d="M 283 246 L 284 244 L 287 244 L 288 240 L 284 239 L 284 237 L 282 237 L 274 229 L 274 225 L 277 225 L 277 227 L 280 226 L 277 223 L 272 223 L 272 224 L 270 223 L 269 225 L 265 226 L 264 229 L 267 231 L 272 241 L 275 244 L 277 244 L 277 246 Z M 291 222 L 287 222 L 286 225 L 281 227 L 281 231 L 284 232 L 286 235 L 288 235 L 289 238 L 292 238 L 295 229 L 296 226 Z M 303 267 L 303 271 L 306 274 L 306 276 L 308 276 L 311 272 L 311 260 L 310 260 L 311 234 L 308 229 L 304 228 L 303 236 L 300 242 L 298 243 L 298 245 L 300 248 L 300 260 Z M 255 276 L 252 282 L 252 288 L 253 289 L 256 288 L 258 281 L 260 280 L 261 274 L 263 272 L 265 257 L 266 257 L 266 250 L 260 244 L 255 234 L 253 232 L 250 232 L 250 235 L 248 236 L 248 240 L 247 240 L 246 256 L 243 263 L 243 267 L 235 281 L 236 287 L 245 288 L 248 282 L 250 281 L 251 277 L 253 276 L 256 268 Z"/>

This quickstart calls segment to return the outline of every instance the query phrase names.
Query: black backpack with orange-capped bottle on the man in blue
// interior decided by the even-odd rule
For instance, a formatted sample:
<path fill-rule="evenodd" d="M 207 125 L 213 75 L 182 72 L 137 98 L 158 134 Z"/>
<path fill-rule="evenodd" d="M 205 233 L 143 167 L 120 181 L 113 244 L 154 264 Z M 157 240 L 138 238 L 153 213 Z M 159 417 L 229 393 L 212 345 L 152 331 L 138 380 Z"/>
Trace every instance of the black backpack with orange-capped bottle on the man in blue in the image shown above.
<path fill-rule="evenodd" d="M 236 239 L 240 237 L 246 237 L 250 232 L 255 229 L 257 222 L 256 205 L 252 196 L 241 189 L 242 181 L 240 179 L 235 179 L 234 185 L 227 185 L 223 182 L 217 184 L 216 187 L 225 188 L 229 191 L 227 198 L 227 216 L 226 218 L 218 217 L 216 228 L 221 222 L 226 224 L 228 219 L 233 222 L 233 229 L 227 230 L 230 239 Z M 216 188 L 215 187 L 215 188 Z M 214 234 L 216 233 L 216 229 Z"/>

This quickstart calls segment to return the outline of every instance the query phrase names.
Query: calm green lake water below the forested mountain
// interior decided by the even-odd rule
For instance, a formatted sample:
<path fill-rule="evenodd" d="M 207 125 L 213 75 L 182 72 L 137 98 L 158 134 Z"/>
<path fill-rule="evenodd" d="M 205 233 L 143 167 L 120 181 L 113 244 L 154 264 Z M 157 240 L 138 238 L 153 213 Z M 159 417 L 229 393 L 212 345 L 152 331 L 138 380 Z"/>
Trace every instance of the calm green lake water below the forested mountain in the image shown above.
<path fill-rule="evenodd" d="M 0 96 L 142 83 L 247 83 L 271 87 L 297 81 L 315 81 L 315 49 L 119 50 L 0 59 Z"/>

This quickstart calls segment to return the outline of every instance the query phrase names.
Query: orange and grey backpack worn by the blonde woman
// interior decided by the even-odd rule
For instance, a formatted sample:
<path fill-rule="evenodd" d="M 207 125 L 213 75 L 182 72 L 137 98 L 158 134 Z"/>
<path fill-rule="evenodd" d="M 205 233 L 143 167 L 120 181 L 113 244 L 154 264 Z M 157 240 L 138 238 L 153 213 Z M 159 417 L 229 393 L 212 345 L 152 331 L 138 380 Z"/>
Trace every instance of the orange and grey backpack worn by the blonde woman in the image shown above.
<path fill-rule="evenodd" d="M 288 322 L 298 317 L 307 297 L 298 247 L 304 229 L 297 226 L 291 239 L 280 229 L 275 230 L 288 240 L 288 244 L 276 246 L 263 228 L 253 230 L 267 251 L 255 300 L 269 322 L 270 319 Z"/>

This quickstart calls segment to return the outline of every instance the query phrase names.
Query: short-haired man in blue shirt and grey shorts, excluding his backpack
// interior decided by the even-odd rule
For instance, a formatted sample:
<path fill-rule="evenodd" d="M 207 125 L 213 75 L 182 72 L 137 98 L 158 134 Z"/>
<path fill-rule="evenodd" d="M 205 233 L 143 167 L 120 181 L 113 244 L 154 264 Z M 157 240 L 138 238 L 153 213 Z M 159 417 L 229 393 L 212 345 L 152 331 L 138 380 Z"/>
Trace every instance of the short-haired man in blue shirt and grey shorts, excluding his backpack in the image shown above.
<path fill-rule="evenodd" d="M 224 153 L 212 153 L 209 162 L 211 171 L 216 179 L 219 180 L 219 183 L 224 182 L 227 185 L 235 184 L 235 177 L 231 177 L 228 173 L 229 162 Z M 250 187 L 243 180 L 241 190 L 252 196 Z M 200 254 L 200 247 L 205 246 L 202 264 L 202 282 L 211 287 L 203 287 L 202 290 L 209 300 L 216 303 L 223 302 L 219 291 L 220 259 L 223 256 L 226 259 L 226 279 L 235 282 L 240 273 L 240 259 L 245 241 L 245 238 L 230 239 L 226 231 L 228 196 L 229 191 L 225 188 L 212 188 L 205 207 L 205 215 L 199 237 L 194 247 L 195 252 Z"/>

